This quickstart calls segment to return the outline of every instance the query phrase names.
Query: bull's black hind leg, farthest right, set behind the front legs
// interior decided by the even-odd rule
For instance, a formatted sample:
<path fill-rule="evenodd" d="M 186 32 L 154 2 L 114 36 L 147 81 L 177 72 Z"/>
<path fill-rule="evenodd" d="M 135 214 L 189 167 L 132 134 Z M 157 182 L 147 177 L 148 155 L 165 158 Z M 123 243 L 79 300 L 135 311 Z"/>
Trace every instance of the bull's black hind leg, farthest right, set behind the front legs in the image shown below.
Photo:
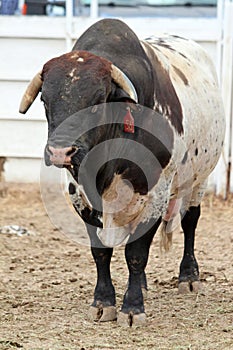
<path fill-rule="evenodd" d="M 194 255 L 195 230 L 200 217 L 200 205 L 190 207 L 181 221 L 184 231 L 184 254 L 180 264 L 179 293 L 198 292 L 198 263 Z"/>

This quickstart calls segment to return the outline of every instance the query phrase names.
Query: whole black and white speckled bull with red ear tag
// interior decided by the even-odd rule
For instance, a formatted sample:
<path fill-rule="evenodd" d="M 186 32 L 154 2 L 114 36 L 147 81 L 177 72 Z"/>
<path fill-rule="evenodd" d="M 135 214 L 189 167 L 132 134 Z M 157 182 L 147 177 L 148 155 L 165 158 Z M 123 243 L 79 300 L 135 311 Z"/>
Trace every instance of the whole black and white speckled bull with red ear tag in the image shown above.
<path fill-rule="evenodd" d="M 195 230 L 225 128 L 206 52 L 174 35 L 140 41 L 125 23 L 104 19 L 71 52 L 44 65 L 23 96 L 21 113 L 40 91 L 48 121 L 45 162 L 71 174 L 70 197 L 90 237 L 97 268 L 94 320 L 146 321 L 145 268 L 160 225 L 168 246 L 175 223 L 181 224 L 179 291 L 198 292 Z M 106 142 L 96 170 L 92 151 Z M 110 261 L 113 247 L 123 243 L 129 277 L 117 316 Z"/>

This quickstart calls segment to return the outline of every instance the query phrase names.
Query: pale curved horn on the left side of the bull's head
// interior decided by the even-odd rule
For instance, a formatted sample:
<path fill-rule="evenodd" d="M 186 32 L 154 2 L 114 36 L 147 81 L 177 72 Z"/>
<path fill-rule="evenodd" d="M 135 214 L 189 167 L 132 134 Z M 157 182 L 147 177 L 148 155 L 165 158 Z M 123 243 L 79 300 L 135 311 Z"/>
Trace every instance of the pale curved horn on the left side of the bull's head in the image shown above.
<path fill-rule="evenodd" d="M 26 113 L 33 101 L 35 100 L 36 96 L 38 95 L 42 86 L 41 73 L 42 72 L 37 73 L 29 83 L 20 103 L 20 113 Z"/>

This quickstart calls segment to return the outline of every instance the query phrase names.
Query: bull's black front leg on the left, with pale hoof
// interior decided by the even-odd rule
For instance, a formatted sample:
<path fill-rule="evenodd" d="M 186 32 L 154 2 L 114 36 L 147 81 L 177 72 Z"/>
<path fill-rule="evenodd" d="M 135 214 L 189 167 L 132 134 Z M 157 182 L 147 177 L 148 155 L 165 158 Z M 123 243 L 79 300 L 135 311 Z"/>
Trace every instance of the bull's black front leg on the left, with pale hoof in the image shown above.
<path fill-rule="evenodd" d="M 90 308 L 90 316 L 95 321 L 113 321 L 117 318 L 115 289 L 112 284 L 110 262 L 112 248 L 102 245 L 96 235 L 96 228 L 88 229 L 91 240 L 91 252 L 97 269 L 97 283 L 94 301 Z"/>

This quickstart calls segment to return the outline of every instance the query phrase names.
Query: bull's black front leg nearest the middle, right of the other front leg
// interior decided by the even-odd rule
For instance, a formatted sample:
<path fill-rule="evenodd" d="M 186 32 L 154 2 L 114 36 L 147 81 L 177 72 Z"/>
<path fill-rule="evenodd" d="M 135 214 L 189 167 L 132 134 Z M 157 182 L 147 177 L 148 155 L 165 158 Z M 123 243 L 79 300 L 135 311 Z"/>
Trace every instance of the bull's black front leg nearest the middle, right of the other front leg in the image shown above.
<path fill-rule="evenodd" d="M 125 257 L 129 270 L 129 280 L 127 290 L 124 295 L 121 312 L 118 315 L 118 323 L 125 326 L 137 326 L 146 322 L 144 309 L 143 289 L 146 288 L 145 268 L 148 261 L 149 249 L 154 234 L 160 224 L 160 220 L 153 227 L 145 231 L 145 227 L 140 225 L 137 234 L 140 236 L 125 247 Z M 146 232 L 141 235 L 140 232 Z"/>

